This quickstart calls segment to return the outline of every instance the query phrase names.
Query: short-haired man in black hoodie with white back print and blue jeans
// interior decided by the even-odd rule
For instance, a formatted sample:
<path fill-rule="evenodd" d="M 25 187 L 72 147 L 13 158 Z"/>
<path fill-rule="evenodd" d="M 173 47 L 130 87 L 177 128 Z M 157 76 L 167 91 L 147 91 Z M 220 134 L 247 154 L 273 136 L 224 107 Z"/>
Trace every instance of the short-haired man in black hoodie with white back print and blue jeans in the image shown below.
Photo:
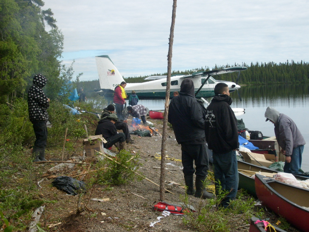
<path fill-rule="evenodd" d="M 228 192 L 220 205 L 227 208 L 230 201 L 236 198 L 239 181 L 237 119 L 230 106 L 232 98 L 228 85 L 222 82 L 216 84 L 214 93 L 214 98 L 206 108 L 205 135 L 208 148 L 213 152 L 216 194 L 219 193 L 220 184 L 222 190 Z"/>

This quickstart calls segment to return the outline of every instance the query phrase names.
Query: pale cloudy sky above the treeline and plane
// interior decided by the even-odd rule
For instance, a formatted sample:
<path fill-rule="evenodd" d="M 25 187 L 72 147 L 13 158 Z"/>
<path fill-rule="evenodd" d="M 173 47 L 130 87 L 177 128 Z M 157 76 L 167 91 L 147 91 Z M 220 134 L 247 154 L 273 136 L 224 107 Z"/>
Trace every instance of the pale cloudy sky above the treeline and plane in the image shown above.
<path fill-rule="evenodd" d="M 167 72 L 172 0 L 44 2 L 64 35 L 62 61 L 75 60 L 80 81 L 99 78 L 98 55 L 124 77 Z M 309 62 L 308 9 L 308 0 L 178 0 L 171 70 Z"/>

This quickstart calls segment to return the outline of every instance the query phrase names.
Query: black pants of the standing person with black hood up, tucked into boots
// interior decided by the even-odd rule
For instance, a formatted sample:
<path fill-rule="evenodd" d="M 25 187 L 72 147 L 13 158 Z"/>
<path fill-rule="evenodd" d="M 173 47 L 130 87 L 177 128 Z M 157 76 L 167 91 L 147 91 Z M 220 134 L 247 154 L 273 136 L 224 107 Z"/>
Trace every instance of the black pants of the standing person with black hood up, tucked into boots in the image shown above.
<path fill-rule="evenodd" d="M 208 174 L 209 161 L 206 154 L 206 144 L 181 144 L 181 161 L 185 176 L 193 175 L 204 178 Z M 196 170 L 193 167 L 195 162 Z"/>

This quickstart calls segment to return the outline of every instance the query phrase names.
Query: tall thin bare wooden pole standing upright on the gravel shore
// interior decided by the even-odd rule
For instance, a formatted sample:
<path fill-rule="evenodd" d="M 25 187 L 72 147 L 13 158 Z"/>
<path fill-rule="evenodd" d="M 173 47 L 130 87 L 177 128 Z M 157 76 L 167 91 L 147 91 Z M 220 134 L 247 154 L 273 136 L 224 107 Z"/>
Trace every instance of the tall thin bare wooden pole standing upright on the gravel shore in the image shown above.
<path fill-rule="evenodd" d="M 176 18 L 176 6 L 177 0 L 173 0 L 173 11 L 172 11 L 172 23 L 170 30 L 170 38 L 168 43 L 168 54 L 167 54 L 167 79 L 166 79 L 166 95 L 165 95 L 165 107 L 164 107 L 164 119 L 163 119 L 163 135 L 161 145 L 161 176 L 160 176 L 160 200 L 165 200 L 164 197 L 164 180 L 165 180 L 165 142 L 166 142 L 166 131 L 167 131 L 167 114 L 168 114 L 168 103 L 170 101 L 170 89 L 171 89 L 171 67 L 172 67 L 172 50 L 174 40 L 174 27 Z"/>

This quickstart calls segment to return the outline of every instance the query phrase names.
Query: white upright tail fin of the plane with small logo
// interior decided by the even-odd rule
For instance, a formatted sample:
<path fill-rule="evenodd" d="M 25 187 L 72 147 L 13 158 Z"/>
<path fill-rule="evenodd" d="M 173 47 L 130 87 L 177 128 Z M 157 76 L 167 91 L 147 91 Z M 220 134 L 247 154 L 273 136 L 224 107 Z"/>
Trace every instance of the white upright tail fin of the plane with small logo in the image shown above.
<path fill-rule="evenodd" d="M 101 89 L 114 90 L 118 84 L 124 81 L 108 55 L 96 56 L 95 62 L 98 69 Z"/>

